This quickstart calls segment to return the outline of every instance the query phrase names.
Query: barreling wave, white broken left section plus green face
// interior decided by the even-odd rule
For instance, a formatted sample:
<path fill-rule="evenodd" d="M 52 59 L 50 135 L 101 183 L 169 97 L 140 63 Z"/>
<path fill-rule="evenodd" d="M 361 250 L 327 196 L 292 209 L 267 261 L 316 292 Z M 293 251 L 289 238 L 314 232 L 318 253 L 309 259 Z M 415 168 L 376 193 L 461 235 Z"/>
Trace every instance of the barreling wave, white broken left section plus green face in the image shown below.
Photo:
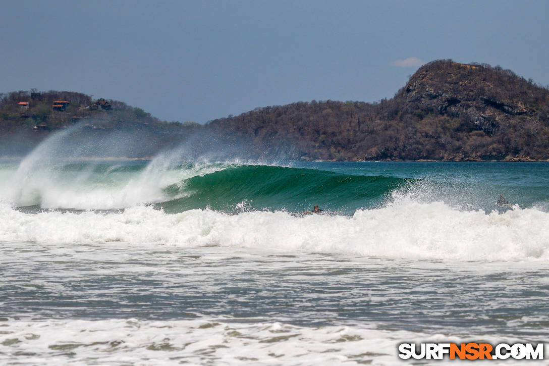
<path fill-rule="evenodd" d="M 2 201 L 35 209 L 123 209 L 155 204 L 169 213 L 212 208 L 300 212 L 319 204 L 352 214 L 389 198 L 408 179 L 245 164 L 39 165 L 4 178 Z M 5 174 L 9 175 L 9 174 Z"/>

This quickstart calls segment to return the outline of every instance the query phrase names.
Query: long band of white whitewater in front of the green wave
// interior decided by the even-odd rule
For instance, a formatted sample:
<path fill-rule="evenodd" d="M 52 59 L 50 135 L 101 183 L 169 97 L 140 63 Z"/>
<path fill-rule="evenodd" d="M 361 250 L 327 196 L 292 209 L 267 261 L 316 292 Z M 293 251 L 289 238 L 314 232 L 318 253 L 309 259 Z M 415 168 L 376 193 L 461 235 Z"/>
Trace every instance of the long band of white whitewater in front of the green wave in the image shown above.
<path fill-rule="evenodd" d="M 549 259 L 549 213 L 460 211 L 409 199 L 352 216 L 288 212 L 226 214 L 193 209 L 167 214 L 150 206 L 121 212 L 29 214 L 0 205 L 0 241 L 127 242 L 132 246 L 250 247 L 390 258 L 514 261 Z"/>

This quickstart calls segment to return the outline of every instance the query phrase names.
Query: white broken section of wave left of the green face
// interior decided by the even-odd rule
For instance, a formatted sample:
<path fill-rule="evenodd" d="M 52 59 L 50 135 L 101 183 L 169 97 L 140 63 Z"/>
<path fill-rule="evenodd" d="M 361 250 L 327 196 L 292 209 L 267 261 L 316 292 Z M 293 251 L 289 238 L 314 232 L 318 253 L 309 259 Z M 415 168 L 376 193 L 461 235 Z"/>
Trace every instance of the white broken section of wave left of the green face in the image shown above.
<path fill-rule="evenodd" d="M 0 174 L 0 201 L 36 209 L 122 209 L 170 199 L 164 188 L 204 171 L 221 169 L 188 165 L 159 169 L 135 165 L 69 163 L 40 165 Z"/>

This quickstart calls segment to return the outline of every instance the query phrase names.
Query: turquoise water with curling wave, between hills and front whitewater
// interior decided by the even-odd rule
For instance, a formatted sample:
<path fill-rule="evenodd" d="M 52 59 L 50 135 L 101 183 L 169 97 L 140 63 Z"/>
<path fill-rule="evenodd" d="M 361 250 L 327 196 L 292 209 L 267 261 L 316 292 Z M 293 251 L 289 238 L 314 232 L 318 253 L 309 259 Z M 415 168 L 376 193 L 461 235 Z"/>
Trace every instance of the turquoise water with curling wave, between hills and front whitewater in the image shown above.
<path fill-rule="evenodd" d="M 0 177 L 4 176 L 7 185 L 4 200 L 36 209 L 123 209 L 154 204 L 168 213 L 197 208 L 299 213 L 318 204 L 330 213 L 352 215 L 357 209 L 382 207 L 395 197 L 408 195 L 421 202 L 442 201 L 488 213 L 501 210 L 495 204 L 500 194 L 511 206 L 544 211 L 549 207 L 547 163 L 163 163 L 161 169 L 155 169 L 154 163 L 57 163 L 24 171 L 23 177 L 18 177 L 21 171 L 16 164 L 4 164 Z M 14 178 L 27 186 L 20 187 Z M 13 192 L 14 186 L 19 192 Z M 68 192 L 75 202 L 61 202 Z M 57 197 L 44 204 L 43 198 L 51 193 Z M 106 195 L 120 194 L 126 202 L 101 203 Z M 81 202 L 83 196 L 88 203 Z"/>

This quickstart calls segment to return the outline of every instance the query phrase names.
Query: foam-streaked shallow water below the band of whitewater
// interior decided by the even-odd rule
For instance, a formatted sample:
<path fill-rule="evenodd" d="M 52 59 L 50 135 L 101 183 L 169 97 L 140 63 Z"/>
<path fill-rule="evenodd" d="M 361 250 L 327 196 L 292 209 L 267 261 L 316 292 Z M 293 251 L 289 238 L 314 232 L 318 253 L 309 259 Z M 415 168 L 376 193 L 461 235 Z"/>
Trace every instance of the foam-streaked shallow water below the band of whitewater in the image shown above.
<path fill-rule="evenodd" d="M 402 342 L 549 336 L 541 262 L 110 242 L 1 263 L 5 363 L 392 365 Z"/>

